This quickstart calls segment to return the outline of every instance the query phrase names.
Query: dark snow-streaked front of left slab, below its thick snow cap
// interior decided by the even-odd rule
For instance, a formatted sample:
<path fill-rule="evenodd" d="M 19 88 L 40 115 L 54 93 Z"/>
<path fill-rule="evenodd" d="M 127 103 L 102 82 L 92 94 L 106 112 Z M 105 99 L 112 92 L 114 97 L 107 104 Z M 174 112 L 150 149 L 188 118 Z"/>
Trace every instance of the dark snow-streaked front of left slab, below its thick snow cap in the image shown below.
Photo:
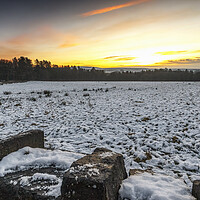
<path fill-rule="evenodd" d="M 60 188 L 61 184 L 52 178 L 34 178 L 30 181 L 38 174 L 55 176 L 60 178 L 61 183 L 63 171 L 54 168 L 29 169 L 0 177 L 0 200 L 59 200 L 60 197 L 50 196 L 47 192 L 51 186 Z"/>

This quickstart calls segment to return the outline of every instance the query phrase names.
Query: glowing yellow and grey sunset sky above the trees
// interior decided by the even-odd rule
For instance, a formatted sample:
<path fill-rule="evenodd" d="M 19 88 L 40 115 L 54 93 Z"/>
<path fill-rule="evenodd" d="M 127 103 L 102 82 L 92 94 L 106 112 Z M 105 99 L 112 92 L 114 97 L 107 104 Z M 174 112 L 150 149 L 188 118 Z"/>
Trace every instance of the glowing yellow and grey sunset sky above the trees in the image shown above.
<path fill-rule="evenodd" d="M 1 0 L 0 58 L 200 69 L 200 0 Z"/>

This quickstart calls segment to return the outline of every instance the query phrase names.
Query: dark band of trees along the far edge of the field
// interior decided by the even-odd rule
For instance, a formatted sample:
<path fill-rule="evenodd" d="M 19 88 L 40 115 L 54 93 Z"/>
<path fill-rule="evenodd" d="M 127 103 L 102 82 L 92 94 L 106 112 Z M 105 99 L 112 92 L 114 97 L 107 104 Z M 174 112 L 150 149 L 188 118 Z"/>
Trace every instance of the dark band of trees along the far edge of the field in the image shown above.
<path fill-rule="evenodd" d="M 0 81 L 200 81 L 200 72 L 156 69 L 141 72 L 112 72 L 78 66 L 52 65 L 27 57 L 0 60 Z"/>

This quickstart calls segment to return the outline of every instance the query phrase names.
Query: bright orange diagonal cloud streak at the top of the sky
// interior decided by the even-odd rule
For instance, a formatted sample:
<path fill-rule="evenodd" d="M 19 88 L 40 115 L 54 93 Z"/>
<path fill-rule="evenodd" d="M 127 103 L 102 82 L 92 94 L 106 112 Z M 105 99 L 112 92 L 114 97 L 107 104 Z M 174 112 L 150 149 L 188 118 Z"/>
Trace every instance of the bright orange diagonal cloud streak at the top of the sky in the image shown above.
<path fill-rule="evenodd" d="M 102 9 L 86 12 L 86 13 L 83 13 L 82 16 L 83 17 L 89 17 L 89 16 L 92 16 L 92 15 L 103 14 L 103 13 L 107 13 L 107 12 L 110 12 L 110 11 L 113 11 L 113 10 L 118 10 L 120 8 L 125 8 L 125 7 L 138 5 L 138 4 L 147 2 L 147 1 L 150 1 L 150 0 L 132 0 L 132 1 L 128 1 L 127 3 L 124 3 L 124 4 L 120 4 L 120 5 L 116 5 L 116 6 L 111 6 L 111 7 L 106 7 L 106 8 L 102 8 Z"/>

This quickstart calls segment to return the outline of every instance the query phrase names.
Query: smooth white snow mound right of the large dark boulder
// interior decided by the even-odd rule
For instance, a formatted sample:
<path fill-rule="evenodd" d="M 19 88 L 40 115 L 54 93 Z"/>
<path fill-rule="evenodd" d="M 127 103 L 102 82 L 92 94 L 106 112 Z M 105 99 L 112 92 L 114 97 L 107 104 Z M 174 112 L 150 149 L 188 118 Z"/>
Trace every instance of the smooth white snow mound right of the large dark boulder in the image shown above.
<path fill-rule="evenodd" d="M 180 179 L 166 175 L 143 173 L 124 180 L 119 190 L 122 199 L 130 200 L 194 200 Z"/>

